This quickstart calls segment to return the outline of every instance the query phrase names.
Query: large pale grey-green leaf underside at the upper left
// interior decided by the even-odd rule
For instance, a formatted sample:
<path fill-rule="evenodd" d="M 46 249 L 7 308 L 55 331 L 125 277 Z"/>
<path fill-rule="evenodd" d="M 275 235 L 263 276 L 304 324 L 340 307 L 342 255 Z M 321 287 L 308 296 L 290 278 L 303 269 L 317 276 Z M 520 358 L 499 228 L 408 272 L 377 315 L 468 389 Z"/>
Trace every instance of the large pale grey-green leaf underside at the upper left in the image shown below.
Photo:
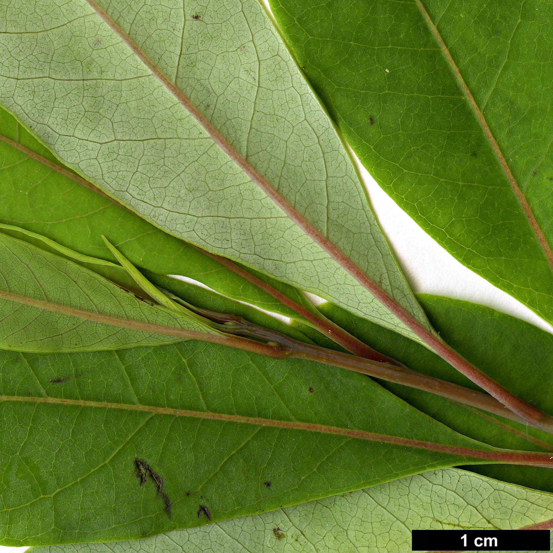
<path fill-rule="evenodd" d="M 174 236 L 431 335 L 346 149 L 255 0 L 20 0 L 5 19 L 0 102 L 66 165 Z M 21 65 L 29 50 L 37 62 Z"/>

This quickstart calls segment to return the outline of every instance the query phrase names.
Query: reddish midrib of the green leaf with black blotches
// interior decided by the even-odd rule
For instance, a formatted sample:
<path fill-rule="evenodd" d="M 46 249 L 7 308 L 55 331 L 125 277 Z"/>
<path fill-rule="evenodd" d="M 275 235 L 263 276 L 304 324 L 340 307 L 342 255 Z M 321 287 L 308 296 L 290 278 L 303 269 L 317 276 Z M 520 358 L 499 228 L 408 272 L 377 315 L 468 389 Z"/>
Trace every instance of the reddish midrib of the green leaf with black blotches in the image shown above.
<path fill-rule="evenodd" d="M 451 455 L 460 455 L 471 457 L 483 461 L 497 461 L 512 463 L 515 465 L 549 465 L 553 467 L 553 457 L 549 453 L 534 451 L 509 451 L 509 450 L 473 450 L 469 447 L 450 446 L 446 444 L 437 444 L 436 442 L 427 442 L 422 440 L 411 440 L 399 436 L 388 436 L 385 434 L 376 434 L 375 432 L 366 432 L 352 428 L 340 428 L 326 426 L 322 424 L 313 424 L 311 422 L 284 421 L 274 419 L 264 419 L 261 417 L 229 415 L 226 413 L 212 413 L 211 411 L 190 411 L 186 409 L 173 409 L 168 407 L 155 407 L 149 405 L 130 405 L 123 403 L 107 403 L 103 401 L 85 401 L 78 399 L 64 398 L 34 398 L 0 395 L 0 401 L 24 401 L 30 403 L 48 403 L 58 405 L 75 405 L 79 407 L 93 407 L 103 409 L 124 409 L 130 411 L 146 411 L 159 415 L 187 416 L 196 419 L 221 420 L 225 422 L 237 422 L 241 424 L 254 424 L 259 426 L 272 426 L 290 430 L 305 430 L 310 432 L 321 432 L 322 434 L 335 434 L 348 436 L 355 439 L 379 441 L 387 444 L 422 448 L 430 451 L 439 451 L 441 453 L 450 453 Z"/>

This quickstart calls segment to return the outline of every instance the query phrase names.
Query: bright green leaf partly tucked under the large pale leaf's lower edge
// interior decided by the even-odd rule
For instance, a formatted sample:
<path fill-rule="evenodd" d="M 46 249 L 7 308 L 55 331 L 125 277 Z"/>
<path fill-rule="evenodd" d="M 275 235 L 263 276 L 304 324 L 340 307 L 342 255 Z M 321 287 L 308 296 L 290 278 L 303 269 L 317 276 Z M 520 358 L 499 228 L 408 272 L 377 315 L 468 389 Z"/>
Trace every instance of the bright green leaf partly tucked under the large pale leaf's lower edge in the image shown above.
<path fill-rule="evenodd" d="M 0 155 L 0 221 L 41 234 L 75 252 L 115 260 L 101 238 L 108 234 L 138 267 L 187 276 L 239 301 L 298 317 L 289 307 L 199 249 L 85 187 L 86 181 L 55 160 L 1 108 Z M 44 243 L 40 247 L 44 249 Z M 59 248 L 56 253 L 60 254 Z M 97 267 L 95 271 L 98 272 Z M 119 274 L 117 281 L 123 283 L 121 278 Z M 128 284 L 131 285 L 130 279 Z"/>

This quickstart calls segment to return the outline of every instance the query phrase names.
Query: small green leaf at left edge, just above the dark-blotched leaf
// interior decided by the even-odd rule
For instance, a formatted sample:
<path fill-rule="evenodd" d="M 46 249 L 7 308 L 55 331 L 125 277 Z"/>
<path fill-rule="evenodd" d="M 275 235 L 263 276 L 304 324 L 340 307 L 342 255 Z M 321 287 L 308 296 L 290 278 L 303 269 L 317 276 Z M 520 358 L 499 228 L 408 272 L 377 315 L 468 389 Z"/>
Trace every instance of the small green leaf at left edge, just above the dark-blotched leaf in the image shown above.
<path fill-rule="evenodd" d="M 150 304 L 81 265 L 3 233 L 0 233 L 0 276 L 3 349 L 97 351 L 183 339 L 112 326 L 110 317 L 218 333 L 181 312 Z M 33 300 L 53 304 L 56 309 L 44 308 Z M 75 310 L 90 316 L 79 316 Z"/>

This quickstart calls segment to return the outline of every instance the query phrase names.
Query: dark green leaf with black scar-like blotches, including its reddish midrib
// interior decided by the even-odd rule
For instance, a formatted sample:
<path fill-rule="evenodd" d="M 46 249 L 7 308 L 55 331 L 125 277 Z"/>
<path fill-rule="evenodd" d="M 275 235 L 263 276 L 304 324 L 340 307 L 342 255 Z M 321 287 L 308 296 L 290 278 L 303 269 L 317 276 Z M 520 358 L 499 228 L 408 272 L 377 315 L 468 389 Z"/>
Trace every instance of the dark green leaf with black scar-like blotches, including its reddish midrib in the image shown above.
<path fill-rule="evenodd" d="M 550 457 L 457 434 L 361 374 L 210 343 L 0 359 L 4 545 L 139 538 L 207 523 L 200 505 L 218 521 Z M 170 518 L 135 458 L 163 478 Z"/>

